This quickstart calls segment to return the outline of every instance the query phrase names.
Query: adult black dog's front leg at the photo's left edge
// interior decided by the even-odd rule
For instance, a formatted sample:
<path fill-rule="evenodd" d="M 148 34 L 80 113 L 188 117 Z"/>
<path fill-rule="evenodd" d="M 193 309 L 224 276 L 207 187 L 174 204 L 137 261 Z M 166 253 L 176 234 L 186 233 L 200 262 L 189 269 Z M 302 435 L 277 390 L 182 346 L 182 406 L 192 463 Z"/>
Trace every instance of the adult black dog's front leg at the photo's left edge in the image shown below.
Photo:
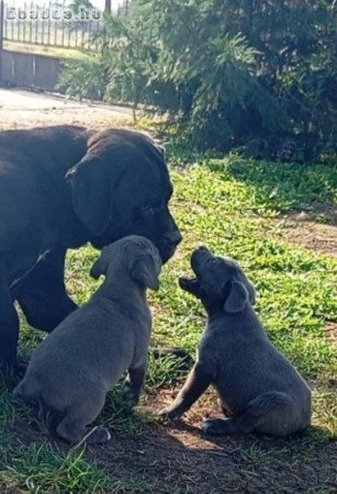
<path fill-rule="evenodd" d="M 19 318 L 0 263 L 0 371 L 10 373 L 16 362 Z"/>

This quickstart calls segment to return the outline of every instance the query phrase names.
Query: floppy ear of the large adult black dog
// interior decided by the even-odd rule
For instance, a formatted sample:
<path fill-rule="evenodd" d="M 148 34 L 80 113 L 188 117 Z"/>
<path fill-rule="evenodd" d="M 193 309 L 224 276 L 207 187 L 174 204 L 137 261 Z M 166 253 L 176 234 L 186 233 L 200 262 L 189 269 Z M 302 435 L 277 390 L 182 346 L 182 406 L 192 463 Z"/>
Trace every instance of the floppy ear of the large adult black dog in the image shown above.
<path fill-rule="evenodd" d="M 108 225 L 111 205 L 111 180 L 103 159 L 86 156 L 66 175 L 71 189 L 72 207 L 93 235 Z"/>

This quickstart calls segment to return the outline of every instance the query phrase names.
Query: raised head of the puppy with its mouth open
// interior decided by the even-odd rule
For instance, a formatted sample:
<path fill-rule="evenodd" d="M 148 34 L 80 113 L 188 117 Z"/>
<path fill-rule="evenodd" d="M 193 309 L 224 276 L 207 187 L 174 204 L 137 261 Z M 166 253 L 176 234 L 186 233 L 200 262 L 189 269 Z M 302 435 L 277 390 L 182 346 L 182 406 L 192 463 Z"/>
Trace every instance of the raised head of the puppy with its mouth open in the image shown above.
<path fill-rule="evenodd" d="M 200 247 L 192 254 L 191 267 L 195 278 L 180 278 L 179 284 L 200 299 L 207 311 L 237 313 L 247 303 L 255 304 L 255 289 L 235 260 L 216 257 Z"/>

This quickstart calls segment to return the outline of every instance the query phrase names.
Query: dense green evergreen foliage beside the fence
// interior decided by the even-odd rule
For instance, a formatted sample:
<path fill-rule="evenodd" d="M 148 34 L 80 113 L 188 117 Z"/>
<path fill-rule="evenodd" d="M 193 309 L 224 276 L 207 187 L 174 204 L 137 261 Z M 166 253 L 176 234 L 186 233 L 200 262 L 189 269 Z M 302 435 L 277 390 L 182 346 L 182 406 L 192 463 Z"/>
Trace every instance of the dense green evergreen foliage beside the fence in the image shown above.
<path fill-rule="evenodd" d="M 90 70 L 70 86 L 86 76 L 108 100 L 169 112 L 199 148 L 297 161 L 336 153 L 335 2 L 133 0 L 105 24 L 105 91 Z"/>

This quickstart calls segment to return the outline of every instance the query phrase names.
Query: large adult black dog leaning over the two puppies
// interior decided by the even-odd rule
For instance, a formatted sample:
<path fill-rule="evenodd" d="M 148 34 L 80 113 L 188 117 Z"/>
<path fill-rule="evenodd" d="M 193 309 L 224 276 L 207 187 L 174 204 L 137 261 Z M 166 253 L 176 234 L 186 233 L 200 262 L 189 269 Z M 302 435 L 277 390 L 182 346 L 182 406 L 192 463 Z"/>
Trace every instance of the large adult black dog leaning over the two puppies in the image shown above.
<path fill-rule="evenodd" d="M 50 332 L 76 304 L 64 281 L 68 248 L 142 235 L 166 262 L 181 240 L 168 210 L 164 151 L 147 135 L 55 126 L 0 134 L 0 367 L 16 361 L 16 300 Z"/>

